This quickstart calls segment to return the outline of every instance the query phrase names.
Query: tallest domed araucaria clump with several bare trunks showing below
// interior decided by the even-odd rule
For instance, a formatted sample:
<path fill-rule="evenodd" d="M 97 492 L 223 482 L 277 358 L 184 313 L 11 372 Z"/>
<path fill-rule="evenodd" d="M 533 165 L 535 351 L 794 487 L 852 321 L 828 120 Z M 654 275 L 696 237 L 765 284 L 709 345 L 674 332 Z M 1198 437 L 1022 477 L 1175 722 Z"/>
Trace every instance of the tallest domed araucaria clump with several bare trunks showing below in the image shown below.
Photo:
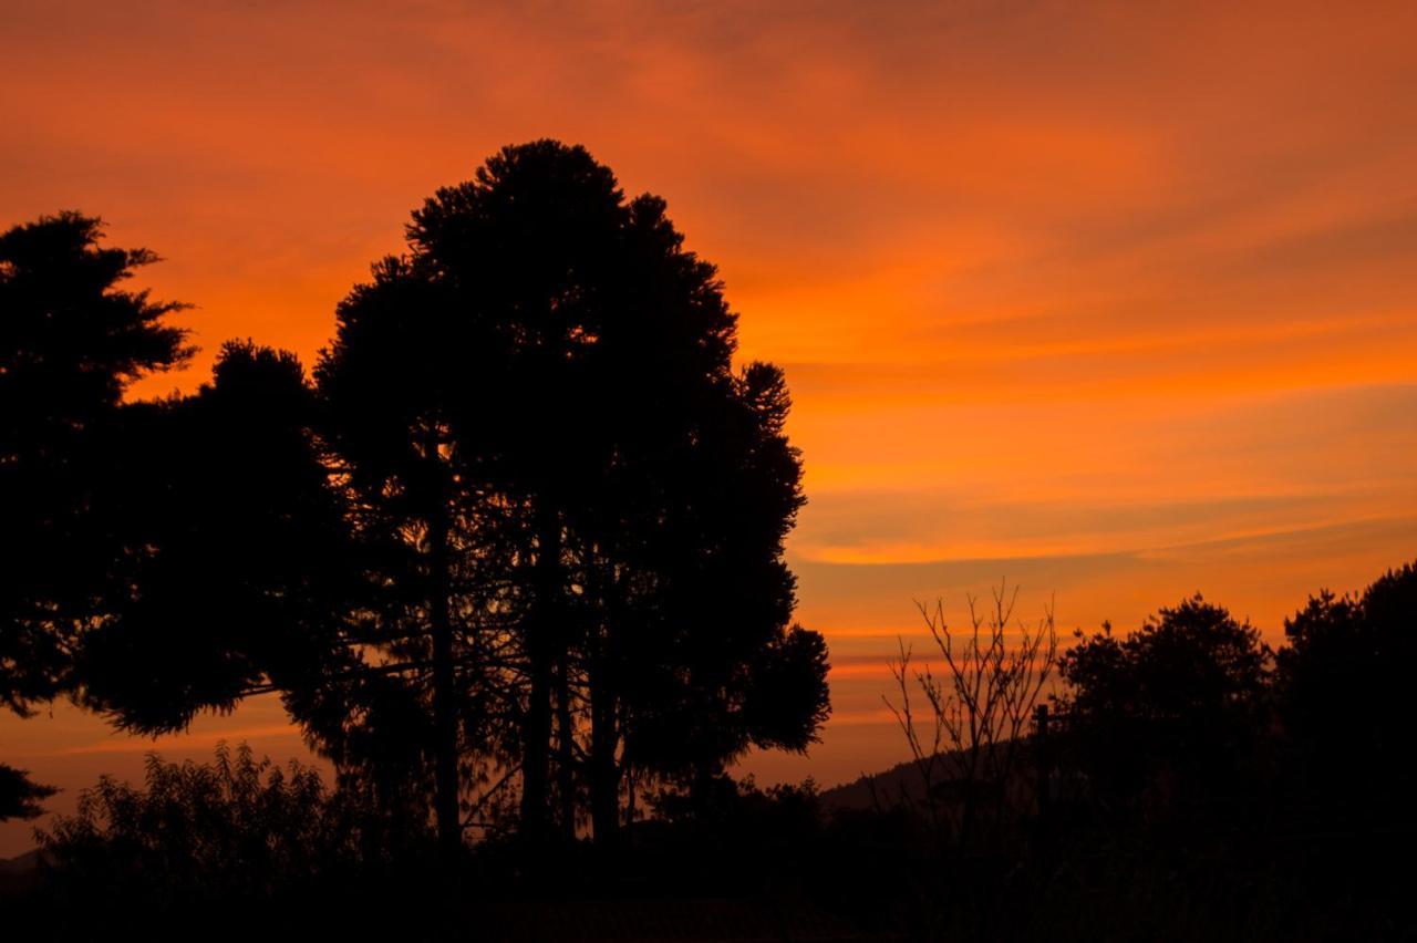
<path fill-rule="evenodd" d="M 323 432 L 407 551 L 374 637 L 425 694 L 448 844 L 469 758 L 520 773 L 523 838 L 574 835 L 588 796 L 605 842 L 636 773 L 803 749 L 826 716 L 825 644 L 789 627 L 786 388 L 733 370 L 682 242 L 662 200 L 534 142 L 429 198 L 340 304 Z"/>

